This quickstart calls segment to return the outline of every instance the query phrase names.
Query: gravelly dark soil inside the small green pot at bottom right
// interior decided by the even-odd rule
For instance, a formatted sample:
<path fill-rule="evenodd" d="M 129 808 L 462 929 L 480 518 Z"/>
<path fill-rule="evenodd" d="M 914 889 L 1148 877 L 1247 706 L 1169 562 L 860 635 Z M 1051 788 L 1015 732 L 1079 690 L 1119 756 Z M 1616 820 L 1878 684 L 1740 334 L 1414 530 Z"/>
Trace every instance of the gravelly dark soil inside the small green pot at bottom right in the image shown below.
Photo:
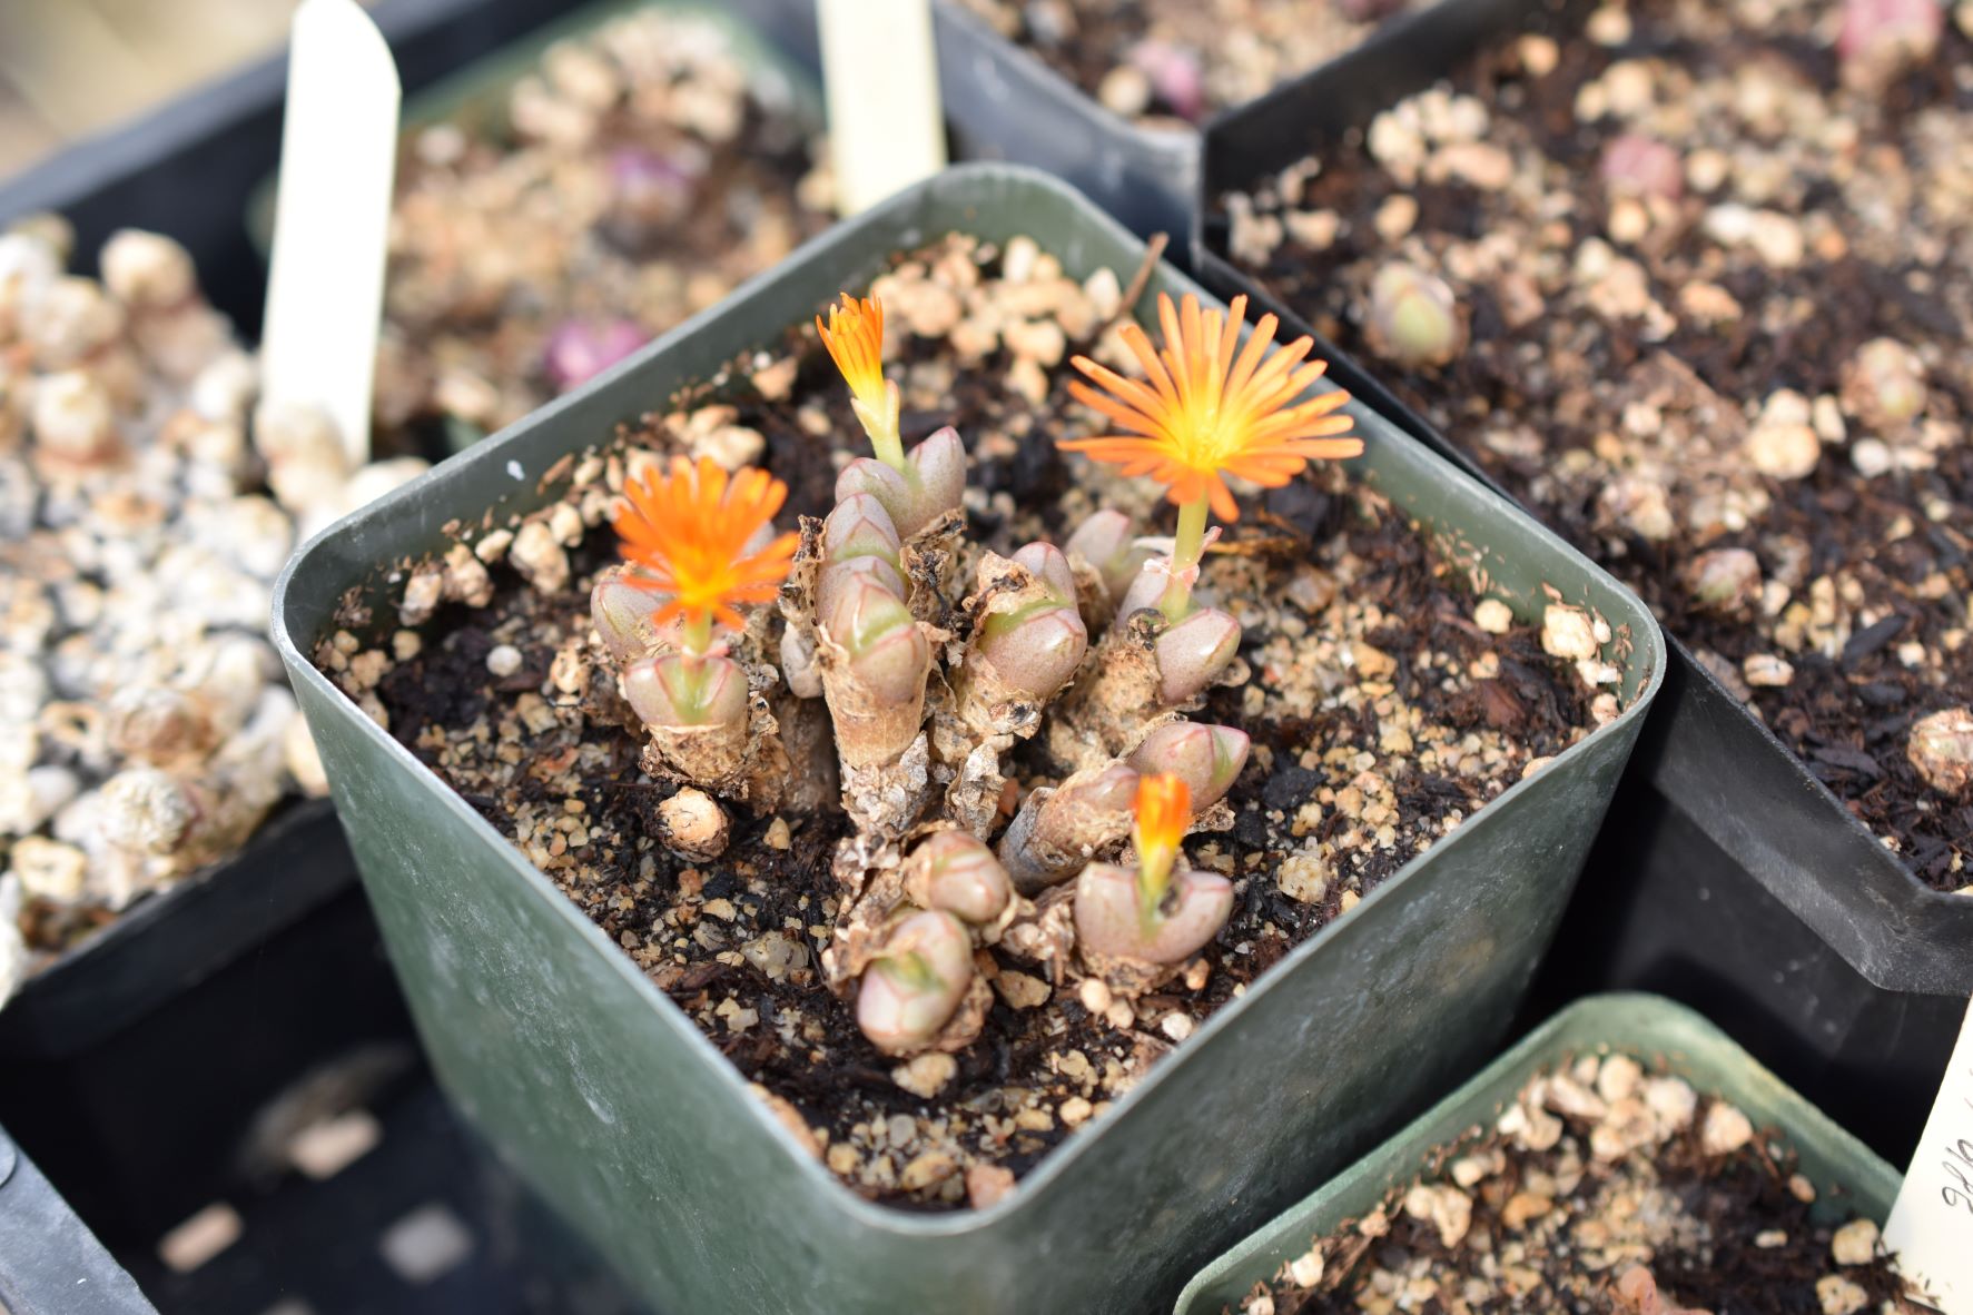
<path fill-rule="evenodd" d="M 1584 1055 L 1227 1311 L 1916 1311 L 1876 1222 L 1797 1173 L 1786 1138 L 1630 1055 Z"/>

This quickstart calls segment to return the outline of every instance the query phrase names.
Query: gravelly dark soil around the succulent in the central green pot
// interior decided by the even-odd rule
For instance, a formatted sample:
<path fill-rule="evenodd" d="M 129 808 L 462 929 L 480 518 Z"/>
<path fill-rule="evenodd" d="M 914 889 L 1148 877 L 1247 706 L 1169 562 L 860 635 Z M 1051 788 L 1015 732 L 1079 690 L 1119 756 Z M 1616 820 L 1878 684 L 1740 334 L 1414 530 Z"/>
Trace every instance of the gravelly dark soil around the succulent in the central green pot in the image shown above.
<path fill-rule="evenodd" d="M 1061 542 L 1099 505 L 1150 532 L 1170 524 L 1154 485 L 1054 444 L 1099 432 L 1101 418 L 1065 390 L 1073 351 L 1131 369 L 1113 323 L 1129 278 L 1099 270 L 1079 284 L 1032 241 L 1002 250 L 955 235 L 876 280 L 906 442 L 949 422 L 969 453 L 967 554 Z M 799 327 L 639 426 L 596 438 L 548 473 L 547 487 L 568 479 L 566 497 L 519 522 L 454 526 L 460 542 L 442 558 L 397 564 L 397 617 L 351 601 L 349 629 L 324 639 L 316 660 L 876 1201 L 994 1201 L 1257 974 L 1620 712 L 1616 668 L 1596 657 L 1598 635 L 1610 639 L 1602 617 L 1557 599 L 1541 627 L 1515 621 L 1340 467 L 1245 497 L 1200 582 L 1245 643 L 1196 718 L 1241 727 L 1251 755 L 1184 846 L 1194 867 L 1233 883 L 1231 919 L 1156 986 L 1115 994 L 1016 952 L 1016 923 L 975 950 L 979 1037 L 900 1061 L 825 982 L 825 948 L 842 948 L 833 921 L 850 826 L 823 700 L 775 690 L 781 743 L 813 771 L 797 767 L 771 810 L 728 804 L 722 820 L 698 791 L 639 769 L 649 747 L 625 729 L 590 605 L 616 558 L 618 491 L 671 453 L 783 479 L 779 528 L 827 513 L 837 471 L 862 450 L 842 381 L 815 329 Z M 973 580 L 975 562 L 957 574 Z M 738 649 L 777 653 L 779 629 L 775 609 L 760 607 Z M 983 800 L 988 830 L 1061 781 L 1060 749 L 1044 733 L 1002 755 L 1006 785 Z M 681 858 L 691 854 L 700 858 Z"/>

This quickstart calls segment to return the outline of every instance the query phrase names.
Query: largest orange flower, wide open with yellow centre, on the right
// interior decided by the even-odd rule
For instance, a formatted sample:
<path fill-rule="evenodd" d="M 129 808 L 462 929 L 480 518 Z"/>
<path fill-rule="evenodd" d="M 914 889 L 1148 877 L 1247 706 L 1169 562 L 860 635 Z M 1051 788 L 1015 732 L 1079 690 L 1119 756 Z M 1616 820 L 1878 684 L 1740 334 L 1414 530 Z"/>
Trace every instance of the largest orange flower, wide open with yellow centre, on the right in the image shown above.
<path fill-rule="evenodd" d="M 1190 294 L 1184 308 L 1174 308 L 1170 296 L 1158 294 L 1162 351 L 1152 351 L 1150 337 L 1138 325 L 1123 327 L 1123 339 L 1148 382 L 1125 379 L 1089 357 L 1075 357 L 1075 369 L 1103 390 L 1077 381 L 1069 384 L 1069 392 L 1125 432 L 1063 440 L 1061 448 L 1121 465 L 1125 475 L 1150 475 L 1168 487 L 1174 503 L 1204 497 L 1221 520 L 1239 519 L 1223 475 L 1279 489 L 1312 459 L 1353 457 L 1363 451 L 1361 438 L 1338 438 L 1348 434 L 1350 416 L 1332 412 L 1350 400 L 1348 392 L 1332 390 L 1294 402 L 1328 371 L 1328 361 L 1302 363 L 1314 339 L 1284 343 L 1269 355 L 1279 321 L 1275 315 L 1261 315 L 1241 349 L 1239 329 L 1245 319 L 1243 296 L 1233 298 L 1231 311 L 1202 311 L 1198 298 Z"/>

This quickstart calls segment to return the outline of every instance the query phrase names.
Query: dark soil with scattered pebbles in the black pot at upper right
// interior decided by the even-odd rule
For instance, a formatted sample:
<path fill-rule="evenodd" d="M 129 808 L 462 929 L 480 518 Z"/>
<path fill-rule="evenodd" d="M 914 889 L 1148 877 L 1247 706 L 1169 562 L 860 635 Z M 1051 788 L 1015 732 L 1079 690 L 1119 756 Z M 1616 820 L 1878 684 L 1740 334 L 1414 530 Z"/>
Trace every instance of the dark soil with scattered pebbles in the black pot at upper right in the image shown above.
<path fill-rule="evenodd" d="M 1606 4 L 1225 197 L 1235 258 L 1973 889 L 1973 39 Z"/>

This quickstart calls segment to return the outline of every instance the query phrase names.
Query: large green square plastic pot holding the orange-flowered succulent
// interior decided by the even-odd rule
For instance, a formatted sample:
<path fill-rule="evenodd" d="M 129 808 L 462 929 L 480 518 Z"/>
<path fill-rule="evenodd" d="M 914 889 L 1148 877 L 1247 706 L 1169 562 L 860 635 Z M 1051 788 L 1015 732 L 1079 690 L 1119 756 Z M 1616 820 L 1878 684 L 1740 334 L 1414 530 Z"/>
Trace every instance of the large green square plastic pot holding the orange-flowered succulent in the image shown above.
<path fill-rule="evenodd" d="M 1075 278 L 1142 260 L 1140 242 L 1040 173 L 951 170 L 343 520 L 276 589 L 282 660 L 442 1082 L 659 1309 L 1138 1311 L 1170 1297 L 1200 1256 L 1499 1039 L 1663 664 L 1630 593 L 1359 410 L 1369 451 L 1355 477 L 1436 534 L 1480 544 L 1511 605 L 1539 611 L 1553 586 L 1630 633 L 1614 657 L 1630 710 L 1288 954 L 1008 1199 L 908 1214 L 852 1197 L 580 909 L 308 655 L 351 589 L 375 601 L 391 564 L 440 548 L 450 522 L 545 505 L 554 489 L 537 481 L 560 457 L 955 229 L 1034 237 Z M 1168 270 L 1152 284 L 1192 288 Z"/>

